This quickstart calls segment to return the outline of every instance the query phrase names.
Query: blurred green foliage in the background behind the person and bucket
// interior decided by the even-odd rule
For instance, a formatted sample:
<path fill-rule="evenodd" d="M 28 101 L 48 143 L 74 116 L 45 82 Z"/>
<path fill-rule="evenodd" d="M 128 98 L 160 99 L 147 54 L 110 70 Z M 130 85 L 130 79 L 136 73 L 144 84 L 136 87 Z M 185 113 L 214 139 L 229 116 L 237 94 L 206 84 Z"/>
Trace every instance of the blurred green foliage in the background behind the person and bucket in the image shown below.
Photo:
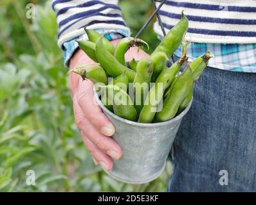
<path fill-rule="evenodd" d="M 26 19 L 27 3 L 37 4 L 35 19 Z M 133 35 L 153 11 L 151 1 L 120 6 Z M 94 165 L 74 124 L 51 1 L 1 0 L 0 19 L 0 191 L 165 192 L 169 163 L 142 185 L 120 183 Z M 141 38 L 151 51 L 158 44 L 152 24 Z M 35 171 L 34 186 L 27 170 Z"/>

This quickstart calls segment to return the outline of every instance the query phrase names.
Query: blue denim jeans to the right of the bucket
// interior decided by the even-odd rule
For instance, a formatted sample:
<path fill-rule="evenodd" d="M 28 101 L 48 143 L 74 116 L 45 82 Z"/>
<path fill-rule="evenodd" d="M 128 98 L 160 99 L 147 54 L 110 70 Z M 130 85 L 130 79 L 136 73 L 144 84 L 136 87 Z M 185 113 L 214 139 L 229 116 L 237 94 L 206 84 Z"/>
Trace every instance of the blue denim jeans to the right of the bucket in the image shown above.
<path fill-rule="evenodd" d="M 172 148 L 169 192 L 256 192 L 256 74 L 207 67 Z"/>

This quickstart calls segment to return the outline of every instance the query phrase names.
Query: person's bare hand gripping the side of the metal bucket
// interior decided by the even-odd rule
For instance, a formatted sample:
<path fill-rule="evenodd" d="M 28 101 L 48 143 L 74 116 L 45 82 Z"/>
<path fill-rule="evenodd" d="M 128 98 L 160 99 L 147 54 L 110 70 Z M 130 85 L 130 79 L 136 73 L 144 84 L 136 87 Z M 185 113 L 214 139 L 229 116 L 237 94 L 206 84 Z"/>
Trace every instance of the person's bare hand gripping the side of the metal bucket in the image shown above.
<path fill-rule="evenodd" d="M 113 40 L 114 45 L 119 40 Z M 133 58 L 140 60 L 149 56 L 144 51 L 137 52 L 137 47 L 131 47 L 125 54 L 125 60 L 130 61 Z M 69 67 L 73 69 L 78 65 L 91 63 L 91 60 L 81 49 L 79 49 L 71 58 Z M 93 83 L 89 80 L 82 81 L 77 74 L 69 75 L 69 87 L 73 99 L 73 108 L 75 113 L 75 123 L 82 135 L 82 140 L 87 149 L 93 155 L 95 164 L 100 163 L 104 170 L 111 170 L 113 159 L 118 160 L 122 156 L 122 150 L 111 137 L 114 134 L 114 126 L 104 113 L 93 101 Z"/>

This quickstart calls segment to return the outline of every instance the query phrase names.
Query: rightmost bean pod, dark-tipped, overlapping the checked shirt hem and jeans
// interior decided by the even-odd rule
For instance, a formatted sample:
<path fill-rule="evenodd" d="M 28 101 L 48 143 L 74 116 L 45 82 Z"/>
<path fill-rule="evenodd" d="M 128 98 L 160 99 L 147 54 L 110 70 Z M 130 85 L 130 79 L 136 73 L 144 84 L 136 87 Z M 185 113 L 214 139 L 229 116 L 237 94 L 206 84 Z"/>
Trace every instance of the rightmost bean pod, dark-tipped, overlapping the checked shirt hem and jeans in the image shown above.
<path fill-rule="evenodd" d="M 190 68 L 193 72 L 193 79 L 194 81 L 197 81 L 199 77 L 201 76 L 203 70 L 208 65 L 208 61 L 212 58 L 212 54 L 210 51 L 207 51 L 204 55 L 197 57 L 194 61 L 190 63 Z"/>

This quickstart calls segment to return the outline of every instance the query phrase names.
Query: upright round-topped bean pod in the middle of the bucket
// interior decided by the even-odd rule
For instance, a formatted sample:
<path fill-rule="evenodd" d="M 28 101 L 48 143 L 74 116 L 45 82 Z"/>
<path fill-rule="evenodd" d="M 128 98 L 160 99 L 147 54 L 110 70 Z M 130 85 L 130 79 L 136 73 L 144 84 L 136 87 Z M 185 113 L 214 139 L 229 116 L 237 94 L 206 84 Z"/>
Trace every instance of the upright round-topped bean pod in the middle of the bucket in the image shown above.
<path fill-rule="evenodd" d="M 147 90 L 149 90 L 153 69 L 152 61 L 149 58 L 142 58 L 138 62 L 137 72 L 133 81 L 134 107 L 137 113 L 140 113 L 143 108 L 144 97 L 147 94 Z"/>

